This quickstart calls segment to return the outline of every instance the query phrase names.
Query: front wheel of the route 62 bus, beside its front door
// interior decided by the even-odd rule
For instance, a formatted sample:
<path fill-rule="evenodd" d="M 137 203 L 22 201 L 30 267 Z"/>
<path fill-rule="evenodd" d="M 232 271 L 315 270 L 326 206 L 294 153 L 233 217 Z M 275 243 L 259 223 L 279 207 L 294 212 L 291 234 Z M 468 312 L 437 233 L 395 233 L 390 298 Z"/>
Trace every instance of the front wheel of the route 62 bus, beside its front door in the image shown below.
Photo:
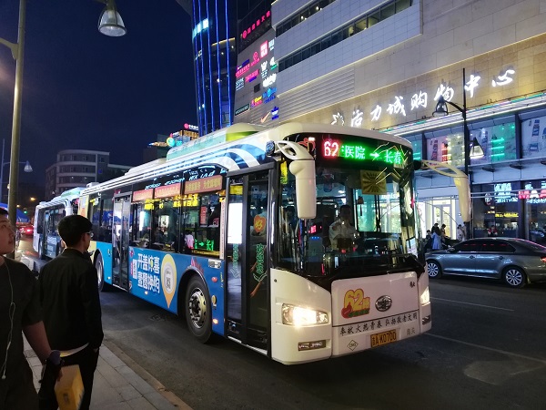
<path fill-rule="evenodd" d="M 210 298 L 200 276 L 194 275 L 187 283 L 186 322 L 189 331 L 201 343 L 207 343 L 212 334 Z"/>

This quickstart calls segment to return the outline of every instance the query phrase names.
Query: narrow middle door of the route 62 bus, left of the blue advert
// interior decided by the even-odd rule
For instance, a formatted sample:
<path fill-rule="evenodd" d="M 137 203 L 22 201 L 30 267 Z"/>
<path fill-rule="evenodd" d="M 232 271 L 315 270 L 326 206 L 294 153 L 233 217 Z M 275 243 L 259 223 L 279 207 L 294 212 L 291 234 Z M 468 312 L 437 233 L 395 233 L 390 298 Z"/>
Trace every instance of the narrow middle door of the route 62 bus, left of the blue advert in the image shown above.
<path fill-rule="evenodd" d="M 112 213 L 112 283 L 129 290 L 128 243 L 129 215 L 131 212 L 130 195 L 114 198 Z"/>

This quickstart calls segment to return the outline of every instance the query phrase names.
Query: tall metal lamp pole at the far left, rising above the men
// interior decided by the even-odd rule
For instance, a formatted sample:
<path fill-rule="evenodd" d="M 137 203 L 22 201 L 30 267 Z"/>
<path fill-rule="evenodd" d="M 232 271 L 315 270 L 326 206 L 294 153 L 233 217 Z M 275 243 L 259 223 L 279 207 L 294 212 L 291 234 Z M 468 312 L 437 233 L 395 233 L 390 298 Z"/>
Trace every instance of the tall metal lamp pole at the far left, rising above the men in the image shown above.
<path fill-rule="evenodd" d="M 23 91 L 23 52 L 25 50 L 26 0 L 19 2 L 19 33 L 17 36 L 17 56 L 15 57 L 14 121 L 12 124 L 11 164 L 9 167 L 9 196 L 7 211 L 10 223 L 17 223 L 17 190 L 19 176 L 19 136 L 21 134 L 21 99 Z M 15 252 L 9 255 L 15 256 Z"/>

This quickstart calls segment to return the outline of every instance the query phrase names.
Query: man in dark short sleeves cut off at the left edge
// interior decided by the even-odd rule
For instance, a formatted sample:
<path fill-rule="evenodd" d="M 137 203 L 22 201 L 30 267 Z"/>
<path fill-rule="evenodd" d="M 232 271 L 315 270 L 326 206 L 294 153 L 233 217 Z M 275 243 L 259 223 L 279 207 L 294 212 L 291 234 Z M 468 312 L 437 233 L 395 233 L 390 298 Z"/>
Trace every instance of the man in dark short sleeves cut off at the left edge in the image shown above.
<path fill-rule="evenodd" d="M 0 254 L 14 249 L 14 227 L 0 208 Z M 0 409 L 38 408 L 22 333 L 42 363 L 55 364 L 55 379 L 60 354 L 47 343 L 35 277 L 25 264 L 0 256 Z"/>

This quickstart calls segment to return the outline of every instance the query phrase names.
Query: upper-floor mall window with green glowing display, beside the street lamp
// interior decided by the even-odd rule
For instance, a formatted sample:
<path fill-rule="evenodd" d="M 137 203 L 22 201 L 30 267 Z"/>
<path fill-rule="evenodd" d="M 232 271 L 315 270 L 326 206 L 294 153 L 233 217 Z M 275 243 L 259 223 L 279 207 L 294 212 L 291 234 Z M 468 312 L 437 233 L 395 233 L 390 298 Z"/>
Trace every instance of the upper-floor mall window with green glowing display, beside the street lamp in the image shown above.
<path fill-rule="evenodd" d="M 483 149 L 483 157 L 470 159 L 472 165 L 517 159 L 516 126 L 513 122 L 473 129 L 470 131 L 470 142 L 474 138 Z"/>

